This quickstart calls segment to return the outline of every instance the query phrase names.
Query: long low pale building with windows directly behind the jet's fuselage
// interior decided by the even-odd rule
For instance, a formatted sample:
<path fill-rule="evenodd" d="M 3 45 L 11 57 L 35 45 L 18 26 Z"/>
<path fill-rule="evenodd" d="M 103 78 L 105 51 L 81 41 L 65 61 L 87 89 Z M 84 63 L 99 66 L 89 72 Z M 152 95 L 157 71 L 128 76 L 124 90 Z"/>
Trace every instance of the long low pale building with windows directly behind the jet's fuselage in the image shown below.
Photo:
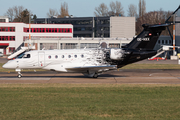
<path fill-rule="evenodd" d="M 36 46 L 36 50 L 99 48 L 101 43 L 107 44 L 108 48 L 121 48 L 131 40 L 132 38 L 39 38 L 32 39 L 31 43 Z M 26 40 L 24 45 L 28 44 L 29 40 Z"/>

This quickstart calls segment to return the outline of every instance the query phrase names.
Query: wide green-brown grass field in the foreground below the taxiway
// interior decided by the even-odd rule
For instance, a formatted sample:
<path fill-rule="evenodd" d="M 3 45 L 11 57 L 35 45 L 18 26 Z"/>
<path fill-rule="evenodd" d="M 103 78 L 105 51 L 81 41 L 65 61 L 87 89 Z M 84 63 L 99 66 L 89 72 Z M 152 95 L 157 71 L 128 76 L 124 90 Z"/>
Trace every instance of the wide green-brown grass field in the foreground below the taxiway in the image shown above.
<path fill-rule="evenodd" d="M 179 85 L 0 84 L 0 119 L 180 119 Z"/>

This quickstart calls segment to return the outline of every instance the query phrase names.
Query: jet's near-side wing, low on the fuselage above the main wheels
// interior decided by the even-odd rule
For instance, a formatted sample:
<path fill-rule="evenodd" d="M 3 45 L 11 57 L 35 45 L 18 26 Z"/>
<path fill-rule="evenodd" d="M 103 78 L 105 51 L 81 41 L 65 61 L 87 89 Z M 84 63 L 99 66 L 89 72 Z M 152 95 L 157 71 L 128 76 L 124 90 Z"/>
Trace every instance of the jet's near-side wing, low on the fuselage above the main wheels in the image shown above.
<path fill-rule="evenodd" d="M 116 70 L 116 65 L 107 65 L 107 66 L 83 66 L 83 67 L 72 67 L 66 68 L 67 71 L 73 72 L 85 72 L 87 70 L 90 71 L 109 71 L 109 70 Z"/>

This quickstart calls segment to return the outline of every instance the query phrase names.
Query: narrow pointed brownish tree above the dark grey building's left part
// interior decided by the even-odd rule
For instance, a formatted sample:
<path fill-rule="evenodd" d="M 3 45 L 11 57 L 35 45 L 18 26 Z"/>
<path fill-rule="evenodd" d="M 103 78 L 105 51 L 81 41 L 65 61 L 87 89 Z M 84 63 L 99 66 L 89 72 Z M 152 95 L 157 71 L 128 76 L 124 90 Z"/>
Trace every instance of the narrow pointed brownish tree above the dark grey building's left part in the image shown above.
<path fill-rule="evenodd" d="M 65 16 L 69 16 L 68 4 L 66 2 L 61 4 L 60 15 L 58 17 L 59 18 L 64 18 Z"/>

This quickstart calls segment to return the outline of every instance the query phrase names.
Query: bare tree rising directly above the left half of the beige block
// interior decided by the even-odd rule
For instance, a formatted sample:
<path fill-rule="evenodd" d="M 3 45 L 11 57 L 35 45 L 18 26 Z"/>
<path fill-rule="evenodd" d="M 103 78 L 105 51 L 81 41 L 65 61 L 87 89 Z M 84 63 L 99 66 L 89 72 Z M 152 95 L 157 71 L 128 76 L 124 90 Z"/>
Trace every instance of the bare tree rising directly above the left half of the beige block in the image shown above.
<path fill-rule="evenodd" d="M 124 16 L 124 11 L 123 11 L 123 7 L 121 5 L 121 2 L 119 2 L 119 1 L 111 2 L 109 6 L 111 9 L 111 11 L 110 11 L 111 15 Z"/>

